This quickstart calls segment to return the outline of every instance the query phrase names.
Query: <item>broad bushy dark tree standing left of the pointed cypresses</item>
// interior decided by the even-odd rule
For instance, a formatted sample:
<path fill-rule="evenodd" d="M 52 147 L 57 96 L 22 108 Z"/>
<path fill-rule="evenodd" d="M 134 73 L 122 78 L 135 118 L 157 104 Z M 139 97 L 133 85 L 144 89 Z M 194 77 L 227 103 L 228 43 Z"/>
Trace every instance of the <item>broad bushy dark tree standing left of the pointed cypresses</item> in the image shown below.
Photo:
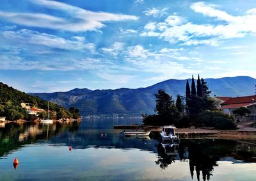
<path fill-rule="evenodd" d="M 156 113 L 160 116 L 166 116 L 177 111 L 172 96 L 168 95 L 164 90 L 158 90 L 157 94 L 154 94 L 156 100 Z"/>

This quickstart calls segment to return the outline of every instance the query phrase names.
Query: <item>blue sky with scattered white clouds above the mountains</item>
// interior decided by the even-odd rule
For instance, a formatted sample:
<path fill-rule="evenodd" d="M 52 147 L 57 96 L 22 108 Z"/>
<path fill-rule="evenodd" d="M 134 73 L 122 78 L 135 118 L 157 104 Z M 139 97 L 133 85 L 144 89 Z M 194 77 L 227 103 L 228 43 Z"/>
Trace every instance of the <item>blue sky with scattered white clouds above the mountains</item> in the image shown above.
<path fill-rule="evenodd" d="M 256 1 L 0 3 L 0 81 L 25 92 L 256 78 Z"/>

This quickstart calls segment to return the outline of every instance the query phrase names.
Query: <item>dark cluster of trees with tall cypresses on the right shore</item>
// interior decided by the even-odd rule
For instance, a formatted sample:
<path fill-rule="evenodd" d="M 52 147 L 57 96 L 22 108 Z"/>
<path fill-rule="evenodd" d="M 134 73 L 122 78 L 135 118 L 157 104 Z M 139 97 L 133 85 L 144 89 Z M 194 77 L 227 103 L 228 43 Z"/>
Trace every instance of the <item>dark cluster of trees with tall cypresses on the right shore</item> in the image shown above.
<path fill-rule="evenodd" d="M 145 125 L 175 125 L 177 127 L 214 127 L 216 129 L 234 129 L 234 118 L 221 112 L 211 90 L 204 79 L 198 75 L 197 84 L 192 76 L 191 88 L 187 81 L 186 97 L 177 96 L 176 103 L 171 95 L 159 90 L 156 97 L 157 114 L 142 114 Z M 186 100 L 186 103 L 184 101 Z M 183 102 L 183 103 L 182 103 Z"/>

